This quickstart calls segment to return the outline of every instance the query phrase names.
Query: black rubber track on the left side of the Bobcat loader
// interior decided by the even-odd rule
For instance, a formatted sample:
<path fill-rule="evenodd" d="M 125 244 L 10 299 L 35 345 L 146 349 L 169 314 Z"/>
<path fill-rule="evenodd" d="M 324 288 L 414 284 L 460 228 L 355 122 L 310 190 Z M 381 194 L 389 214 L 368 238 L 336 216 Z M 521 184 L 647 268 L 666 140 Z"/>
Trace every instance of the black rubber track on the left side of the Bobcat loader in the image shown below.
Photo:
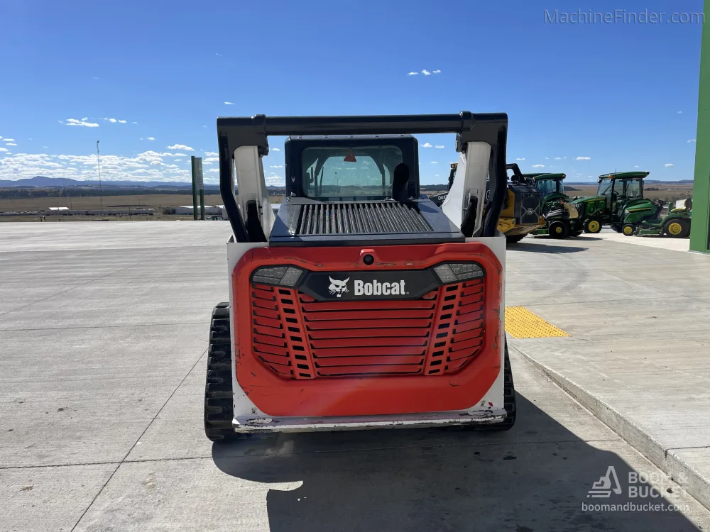
<path fill-rule="evenodd" d="M 212 311 L 207 349 L 207 379 L 204 384 L 204 434 L 212 441 L 236 440 L 231 389 L 231 338 L 229 303 Z"/>

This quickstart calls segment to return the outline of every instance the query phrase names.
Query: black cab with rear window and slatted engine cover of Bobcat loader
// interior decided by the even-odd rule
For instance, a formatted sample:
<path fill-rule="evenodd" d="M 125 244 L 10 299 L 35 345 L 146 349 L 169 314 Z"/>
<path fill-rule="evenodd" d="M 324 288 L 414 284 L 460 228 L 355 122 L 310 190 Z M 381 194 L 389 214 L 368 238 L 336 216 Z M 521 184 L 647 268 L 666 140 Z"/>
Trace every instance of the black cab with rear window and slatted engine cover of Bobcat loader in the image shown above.
<path fill-rule="evenodd" d="M 290 136 L 286 195 L 273 245 L 361 245 L 464 241 L 420 194 L 419 143 L 412 135 Z"/>

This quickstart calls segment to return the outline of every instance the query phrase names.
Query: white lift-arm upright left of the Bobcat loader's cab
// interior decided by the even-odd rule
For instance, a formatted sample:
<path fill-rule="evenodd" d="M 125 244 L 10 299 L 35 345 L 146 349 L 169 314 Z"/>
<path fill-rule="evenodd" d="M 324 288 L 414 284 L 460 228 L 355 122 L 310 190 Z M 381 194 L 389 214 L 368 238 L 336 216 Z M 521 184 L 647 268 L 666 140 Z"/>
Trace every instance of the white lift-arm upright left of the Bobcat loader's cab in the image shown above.
<path fill-rule="evenodd" d="M 256 146 L 242 146 L 234 150 L 236 188 L 239 191 L 239 210 L 246 214 L 246 204 L 254 200 L 259 206 L 259 219 L 264 234 L 268 237 L 275 221 L 271 201 L 268 199 L 264 168 Z M 241 176 L 241 179 L 240 177 Z"/>

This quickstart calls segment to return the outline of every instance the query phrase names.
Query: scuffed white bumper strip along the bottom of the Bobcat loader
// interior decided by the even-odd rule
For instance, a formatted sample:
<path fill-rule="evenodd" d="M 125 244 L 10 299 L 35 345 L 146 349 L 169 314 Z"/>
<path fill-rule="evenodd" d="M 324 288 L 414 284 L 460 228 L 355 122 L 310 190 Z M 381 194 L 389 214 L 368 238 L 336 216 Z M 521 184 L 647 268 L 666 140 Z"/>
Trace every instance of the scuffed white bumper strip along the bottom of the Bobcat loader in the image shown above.
<path fill-rule="evenodd" d="M 506 419 L 504 409 L 448 411 L 393 416 L 239 417 L 232 421 L 237 433 L 361 431 L 375 428 L 490 425 Z"/>

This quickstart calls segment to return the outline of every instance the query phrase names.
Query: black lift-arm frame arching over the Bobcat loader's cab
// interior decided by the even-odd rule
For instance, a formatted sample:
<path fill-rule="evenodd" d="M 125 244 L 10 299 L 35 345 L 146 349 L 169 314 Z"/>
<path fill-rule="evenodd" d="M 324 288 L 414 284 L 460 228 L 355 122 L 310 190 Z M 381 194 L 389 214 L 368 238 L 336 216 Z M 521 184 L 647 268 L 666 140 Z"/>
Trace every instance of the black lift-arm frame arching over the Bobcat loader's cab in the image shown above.
<path fill-rule="evenodd" d="M 219 145 L 219 192 L 237 242 L 249 242 L 249 233 L 234 196 L 234 171 L 231 160 L 241 146 L 257 146 L 268 155 L 268 136 L 288 135 L 406 135 L 456 133 L 457 151 L 466 143 L 491 145 L 491 182 L 496 183 L 486 212 L 483 236 L 493 236 L 506 192 L 506 113 L 379 115 L 379 116 L 271 116 L 217 118 Z"/>

